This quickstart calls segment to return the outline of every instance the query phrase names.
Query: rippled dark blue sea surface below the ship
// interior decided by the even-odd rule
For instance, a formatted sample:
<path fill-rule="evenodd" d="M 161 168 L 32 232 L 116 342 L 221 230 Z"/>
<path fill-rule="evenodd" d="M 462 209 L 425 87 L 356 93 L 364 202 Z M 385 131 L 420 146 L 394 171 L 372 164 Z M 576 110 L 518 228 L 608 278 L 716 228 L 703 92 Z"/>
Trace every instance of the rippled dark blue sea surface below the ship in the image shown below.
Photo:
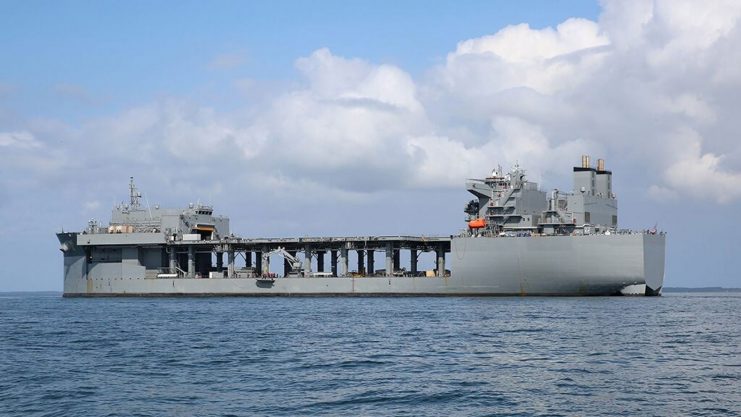
<path fill-rule="evenodd" d="M 741 293 L 0 294 L 0 416 L 741 414 Z"/>

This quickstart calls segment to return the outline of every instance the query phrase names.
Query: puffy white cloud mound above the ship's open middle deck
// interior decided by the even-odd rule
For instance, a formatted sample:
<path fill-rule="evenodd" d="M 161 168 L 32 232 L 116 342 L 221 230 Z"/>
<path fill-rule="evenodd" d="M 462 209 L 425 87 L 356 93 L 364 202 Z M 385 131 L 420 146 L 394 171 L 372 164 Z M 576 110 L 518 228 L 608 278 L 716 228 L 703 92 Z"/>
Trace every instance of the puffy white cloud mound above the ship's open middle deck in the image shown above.
<path fill-rule="evenodd" d="M 330 187 L 403 186 L 412 168 L 400 151 L 405 138 L 429 129 L 411 77 L 327 49 L 296 67 L 305 85 L 275 97 L 252 120 L 263 153 L 284 175 Z"/>

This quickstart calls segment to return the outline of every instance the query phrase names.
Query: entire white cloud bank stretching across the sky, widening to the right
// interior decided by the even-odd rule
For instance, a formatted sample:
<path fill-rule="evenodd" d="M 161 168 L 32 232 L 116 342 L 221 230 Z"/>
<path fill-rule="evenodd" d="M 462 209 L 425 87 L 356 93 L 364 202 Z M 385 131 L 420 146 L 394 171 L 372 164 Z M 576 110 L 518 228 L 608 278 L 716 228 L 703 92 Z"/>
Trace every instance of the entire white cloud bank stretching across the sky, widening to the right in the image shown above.
<path fill-rule="evenodd" d="M 231 172 L 251 187 L 347 199 L 460 187 L 516 162 L 567 185 L 568 167 L 591 153 L 654 198 L 729 202 L 741 198 L 740 19 L 737 2 L 606 2 L 596 22 L 462 40 L 419 79 L 321 48 L 296 60 L 298 85 L 249 109 L 163 100 L 90 120 L 45 152 L 100 170 L 150 167 L 173 183 L 212 178 L 204 189 Z M 255 84 L 235 80 L 245 96 Z M 0 146 L 30 149 L 34 135 L 50 133 L 2 133 Z"/>

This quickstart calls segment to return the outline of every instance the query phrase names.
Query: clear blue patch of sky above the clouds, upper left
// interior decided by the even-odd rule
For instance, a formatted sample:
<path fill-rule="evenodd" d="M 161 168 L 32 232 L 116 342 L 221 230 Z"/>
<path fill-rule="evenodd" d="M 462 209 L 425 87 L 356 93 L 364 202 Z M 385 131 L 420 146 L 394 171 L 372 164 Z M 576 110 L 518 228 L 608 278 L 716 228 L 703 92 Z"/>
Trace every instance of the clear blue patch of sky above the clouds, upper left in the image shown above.
<path fill-rule="evenodd" d="M 598 11 L 591 1 L 8 2 L 1 74 L 22 89 L 24 115 L 81 121 L 168 95 L 233 105 L 235 78 L 293 80 L 296 58 L 321 47 L 420 74 L 462 39 Z M 211 65 L 219 57 L 232 65 Z M 60 84 L 95 105 L 54 97 Z"/>

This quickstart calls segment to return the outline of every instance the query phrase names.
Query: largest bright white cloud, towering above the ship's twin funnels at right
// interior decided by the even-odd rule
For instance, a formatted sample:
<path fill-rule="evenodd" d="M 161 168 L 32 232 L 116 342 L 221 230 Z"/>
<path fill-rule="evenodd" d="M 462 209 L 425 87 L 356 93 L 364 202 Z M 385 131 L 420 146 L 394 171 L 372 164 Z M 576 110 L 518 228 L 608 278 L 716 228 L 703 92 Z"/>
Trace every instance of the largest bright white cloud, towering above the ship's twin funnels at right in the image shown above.
<path fill-rule="evenodd" d="M 601 152 L 641 172 L 654 197 L 727 202 L 741 189 L 731 93 L 741 88 L 731 69 L 741 53 L 729 47 L 741 41 L 740 14 L 733 2 L 607 2 L 598 22 L 510 26 L 459 43 L 431 71 L 424 102 L 448 129 L 478 126 L 500 159 L 548 171 L 546 161 L 568 163 L 558 149 L 574 152 L 571 161 Z M 503 117 L 542 137 L 486 136 L 487 121 L 507 131 Z"/>

